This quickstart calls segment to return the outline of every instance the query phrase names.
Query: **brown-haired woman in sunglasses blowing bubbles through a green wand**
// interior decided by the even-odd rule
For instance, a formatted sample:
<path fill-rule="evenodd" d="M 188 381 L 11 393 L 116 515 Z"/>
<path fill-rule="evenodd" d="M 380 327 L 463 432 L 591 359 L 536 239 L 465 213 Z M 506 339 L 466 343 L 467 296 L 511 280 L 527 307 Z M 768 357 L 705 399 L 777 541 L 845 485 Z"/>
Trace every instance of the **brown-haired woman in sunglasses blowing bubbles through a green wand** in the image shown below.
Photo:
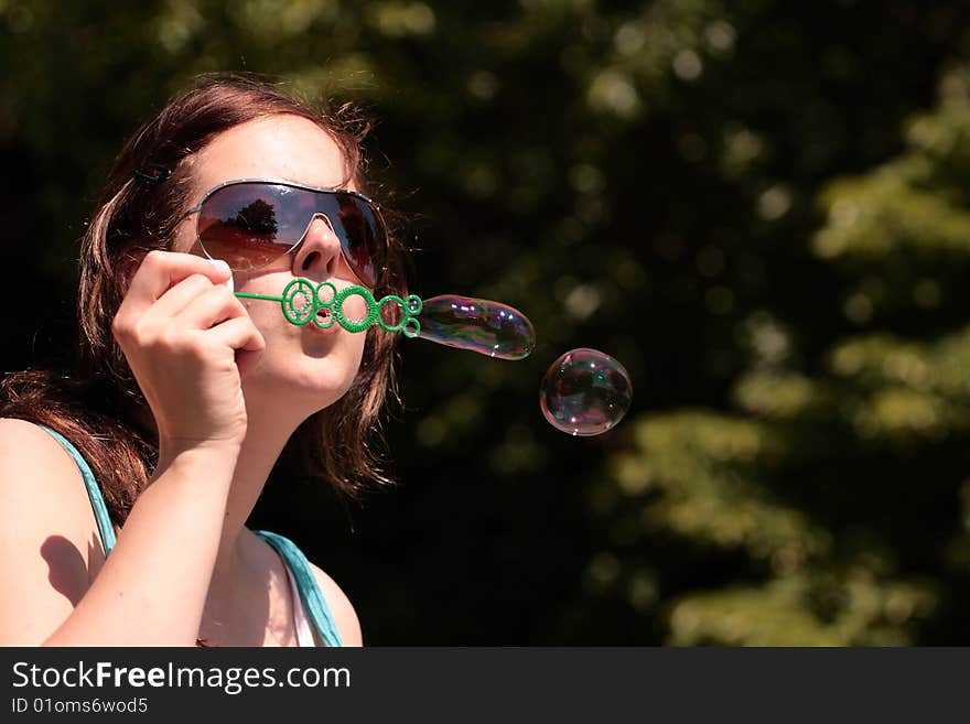
<path fill-rule="evenodd" d="M 342 491 L 384 479 L 368 436 L 397 335 L 294 326 L 227 283 L 407 293 L 358 131 L 217 77 L 118 155 L 82 242 L 76 374 L 0 390 L 0 644 L 362 642 L 337 585 L 245 523 L 291 437 Z"/>

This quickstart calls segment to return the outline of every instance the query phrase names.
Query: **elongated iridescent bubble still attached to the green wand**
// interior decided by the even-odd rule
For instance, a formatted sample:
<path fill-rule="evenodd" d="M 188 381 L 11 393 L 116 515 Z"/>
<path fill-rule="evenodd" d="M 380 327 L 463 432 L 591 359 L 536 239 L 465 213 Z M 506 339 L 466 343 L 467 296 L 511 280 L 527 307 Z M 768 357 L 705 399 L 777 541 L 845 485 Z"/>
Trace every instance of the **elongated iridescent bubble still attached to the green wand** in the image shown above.
<path fill-rule="evenodd" d="M 536 348 L 529 317 L 487 299 L 444 294 L 424 300 L 418 336 L 499 359 L 524 359 Z"/>

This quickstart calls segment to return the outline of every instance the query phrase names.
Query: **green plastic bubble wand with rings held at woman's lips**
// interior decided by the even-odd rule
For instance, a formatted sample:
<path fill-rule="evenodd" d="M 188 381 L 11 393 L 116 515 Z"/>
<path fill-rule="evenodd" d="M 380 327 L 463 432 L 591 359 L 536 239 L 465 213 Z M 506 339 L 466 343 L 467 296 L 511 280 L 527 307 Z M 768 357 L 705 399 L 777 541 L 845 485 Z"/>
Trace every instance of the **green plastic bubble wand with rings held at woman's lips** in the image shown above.
<path fill-rule="evenodd" d="M 387 332 L 401 332 L 406 337 L 417 337 L 421 332 L 421 323 L 417 316 L 423 309 L 421 298 L 408 294 L 401 299 L 396 294 L 388 294 L 380 301 L 374 298 L 371 291 L 365 287 L 353 284 L 341 291 L 331 282 L 314 284 L 308 279 L 294 279 L 283 288 L 281 296 L 268 294 L 250 294 L 248 292 L 234 292 L 241 299 L 259 299 L 267 302 L 279 302 L 283 316 L 290 324 L 302 326 L 313 323 L 321 329 L 327 329 L 334 322 L 347 332 L 365 332 L 373 324 L 377 324 Z M 367 304 L 367 314 L 360 320 L 352 320 L 344 313 L 344 302 L 351 296 L 359 296 Z M 397 324 L 388 324 L 380 315 L 385 304 L 398 304 L 401 307 L 401 320 Z M 320 318 L 319 312 L 326 310 L 327 316 Z"/>

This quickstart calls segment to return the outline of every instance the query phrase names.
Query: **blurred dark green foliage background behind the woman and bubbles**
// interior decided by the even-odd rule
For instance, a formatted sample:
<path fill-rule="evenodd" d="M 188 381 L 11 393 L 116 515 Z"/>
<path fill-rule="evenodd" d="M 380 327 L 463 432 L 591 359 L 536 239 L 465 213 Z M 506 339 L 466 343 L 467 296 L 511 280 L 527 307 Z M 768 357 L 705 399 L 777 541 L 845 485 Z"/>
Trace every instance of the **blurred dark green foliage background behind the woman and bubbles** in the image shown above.
<path fill-rule="evenodd" d="M 65 364 L 111 154 L 197 73 L 378 119 L 412 287 L 535 322 L 408 342 L 402 485 L 281 469 L 255 514 L 370 644 L 970 642 L 970 35 L 888 0 L 0 0 L 3 369 Z M 42 300 L 43 318 L 21 313 Z M 615 431 L 539 414 L 601 348 Z"/>

